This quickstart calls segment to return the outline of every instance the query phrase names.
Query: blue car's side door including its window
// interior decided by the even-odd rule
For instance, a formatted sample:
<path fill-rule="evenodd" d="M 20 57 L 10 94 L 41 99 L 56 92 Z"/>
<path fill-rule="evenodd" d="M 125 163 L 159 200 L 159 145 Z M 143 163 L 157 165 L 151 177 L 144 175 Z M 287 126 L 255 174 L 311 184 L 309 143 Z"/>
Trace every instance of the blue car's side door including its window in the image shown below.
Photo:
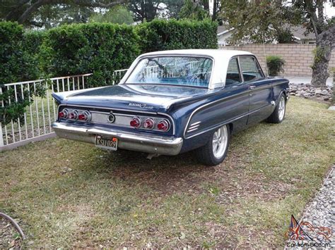
<path fill-rule="evenodd" d="M 254 56 L 240 56 L 240 68 L 245 85 L 249 88 L 249 118 L 247 123 L 259 123 L 271 114 L 271 80 L 264 73 Z"/>

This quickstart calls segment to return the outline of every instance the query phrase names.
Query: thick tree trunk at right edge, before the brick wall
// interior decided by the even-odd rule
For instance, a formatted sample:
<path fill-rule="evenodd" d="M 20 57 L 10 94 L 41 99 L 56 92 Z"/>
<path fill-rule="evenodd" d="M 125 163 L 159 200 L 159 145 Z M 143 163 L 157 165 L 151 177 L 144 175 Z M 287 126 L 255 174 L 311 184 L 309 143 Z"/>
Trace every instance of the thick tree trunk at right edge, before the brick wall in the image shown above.
<path fill-rule="evenodd" d="M 328 65 L 331 58 L 331 49 L 335 45 L 335 27 L 324 30 L 317 36 L 317 46 L 315 48 L 315 57 L 312 65 L 312 85 L 317 87 L 326 87 L 329 77 Z"/>

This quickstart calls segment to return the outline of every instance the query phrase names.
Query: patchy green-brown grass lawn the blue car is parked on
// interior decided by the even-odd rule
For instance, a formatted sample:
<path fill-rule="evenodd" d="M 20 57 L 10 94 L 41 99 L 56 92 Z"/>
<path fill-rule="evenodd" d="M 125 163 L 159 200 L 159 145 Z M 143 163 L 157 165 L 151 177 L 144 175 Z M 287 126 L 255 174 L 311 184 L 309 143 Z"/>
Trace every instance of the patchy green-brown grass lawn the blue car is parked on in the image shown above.
<path fill-rule="evenodd" d="M 216 167 L 49 139 L 0 153 L 0 211 L 23 247 L 283 247 L 335 163 L 334 131 L 327 104 L 292 97 L 281 125 L 234 135 Z"/>

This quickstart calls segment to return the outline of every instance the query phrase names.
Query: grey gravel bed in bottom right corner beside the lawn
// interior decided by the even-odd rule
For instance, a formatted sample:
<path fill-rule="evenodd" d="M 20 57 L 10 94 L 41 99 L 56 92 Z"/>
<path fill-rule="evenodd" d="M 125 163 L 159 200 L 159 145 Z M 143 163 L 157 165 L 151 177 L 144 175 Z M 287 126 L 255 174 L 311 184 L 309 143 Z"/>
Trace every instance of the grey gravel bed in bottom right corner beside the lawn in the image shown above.
<path fill-rule="evenodd" d="M 309 227 L 308 223 L 312 227 Z M 328 243 L 330 246 L 326 246 L 327 249 L 335 249 L 335 165 L 331 168 L 315 199 L 305 208 L 299 224 L 314 242 Z M 306 241 L 297 242 L 306 243 Z M 315 247 L 312 246 L 312 248 Z"/>

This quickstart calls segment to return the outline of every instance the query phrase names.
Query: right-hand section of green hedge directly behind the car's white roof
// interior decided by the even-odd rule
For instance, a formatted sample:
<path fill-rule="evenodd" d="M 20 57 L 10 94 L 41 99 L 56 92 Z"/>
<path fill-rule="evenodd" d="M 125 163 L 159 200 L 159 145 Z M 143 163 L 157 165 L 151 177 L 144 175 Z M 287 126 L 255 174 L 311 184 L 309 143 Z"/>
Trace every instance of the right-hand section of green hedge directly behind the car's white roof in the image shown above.
<path fill-rule="evenodd" d="M 217 49 L 217 23 L 211 20 L 153 20 L 136 26 L 141 51 Z"/>

